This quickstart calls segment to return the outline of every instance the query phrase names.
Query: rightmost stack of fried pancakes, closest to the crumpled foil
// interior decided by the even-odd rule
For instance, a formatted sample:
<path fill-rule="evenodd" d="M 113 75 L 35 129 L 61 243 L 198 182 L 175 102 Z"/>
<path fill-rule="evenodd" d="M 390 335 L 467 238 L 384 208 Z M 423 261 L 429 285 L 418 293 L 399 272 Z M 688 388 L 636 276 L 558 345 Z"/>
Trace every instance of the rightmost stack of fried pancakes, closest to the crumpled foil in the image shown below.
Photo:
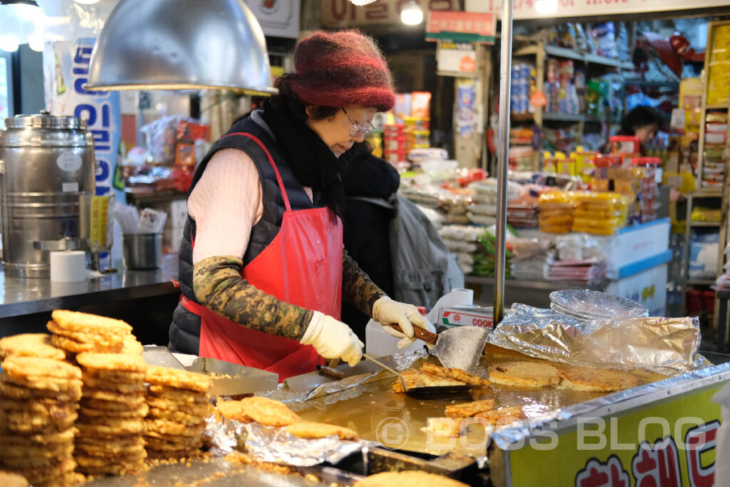
<path fill-rule="evenodd" d="M 145 420 L 147 456 L 170 459 L 195 456 L 203 444 L 210 414 L 210 377 L 185 370 L 147 367 Z"/>

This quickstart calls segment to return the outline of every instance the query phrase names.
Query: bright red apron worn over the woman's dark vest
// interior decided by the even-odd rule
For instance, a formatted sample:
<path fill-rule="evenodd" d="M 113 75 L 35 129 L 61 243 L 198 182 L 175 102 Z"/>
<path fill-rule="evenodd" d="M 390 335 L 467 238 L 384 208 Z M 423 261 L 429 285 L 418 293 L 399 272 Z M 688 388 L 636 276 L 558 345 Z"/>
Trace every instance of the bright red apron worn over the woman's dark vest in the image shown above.
<path fill-rule="evenodd" d="M 244 132 L 228 135 L 249 137 L 264 150 L 276 173 L 285 206 L 279 233 L 244 267 L 241 277 L 277 299 L 339 319 L 342 221 L 327 207 L 291 210 L 279 169 L 264 144 Z M 246 328 L 185 296 L 182 303 L 200 316 L 201 357 L 276 372 L 280 381 L 312 372 L 317 365 L 324 364 L 324 358 L 311 345 Z"/>

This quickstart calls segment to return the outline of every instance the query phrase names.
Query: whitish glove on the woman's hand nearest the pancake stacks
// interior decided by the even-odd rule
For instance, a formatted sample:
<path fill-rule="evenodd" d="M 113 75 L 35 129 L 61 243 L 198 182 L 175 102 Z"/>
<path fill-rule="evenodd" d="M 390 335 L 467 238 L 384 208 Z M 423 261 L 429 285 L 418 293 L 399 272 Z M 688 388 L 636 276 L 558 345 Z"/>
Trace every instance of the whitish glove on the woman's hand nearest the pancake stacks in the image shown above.
<path fill-rule="evenodd" d="M 363 356 L 363 342 L 342 321 L 315 311 L 299 343 L 312 345 L 324 358 L 342 358 L 355 367 Z"/>

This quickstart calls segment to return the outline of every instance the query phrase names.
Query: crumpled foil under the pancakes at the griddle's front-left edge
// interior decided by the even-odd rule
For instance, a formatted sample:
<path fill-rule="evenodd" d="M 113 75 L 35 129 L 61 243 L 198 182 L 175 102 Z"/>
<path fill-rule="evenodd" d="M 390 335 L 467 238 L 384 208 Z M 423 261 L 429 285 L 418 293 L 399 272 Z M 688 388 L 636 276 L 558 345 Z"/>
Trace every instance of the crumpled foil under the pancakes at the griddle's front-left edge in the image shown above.
<path fill-rule="evenodd" d="M 213 456 L 226 456 L 234 450 L 245 450 L 258 461 L 313 467 L 329 462 L 337 464 L 353 453 L 378 445 L 369 441 L 344 441 L 337 436 L 316 440 L 294 437 L 283 428 L 242 423 L 214 415 L 207 418 L 203 437 Z"/>

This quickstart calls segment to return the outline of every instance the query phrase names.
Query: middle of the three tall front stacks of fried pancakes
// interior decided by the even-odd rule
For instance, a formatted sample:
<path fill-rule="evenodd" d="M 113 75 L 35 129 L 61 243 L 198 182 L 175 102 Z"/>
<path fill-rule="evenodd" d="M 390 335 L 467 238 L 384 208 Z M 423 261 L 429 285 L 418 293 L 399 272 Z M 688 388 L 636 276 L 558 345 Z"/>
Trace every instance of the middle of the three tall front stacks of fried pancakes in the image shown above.
<path fill-rule="evenodd" d="M 145 468 L 145 371 L 141 355 L 79 353 L 83 396 L 74 458 L 87 475 L 126 475 Z"/>

